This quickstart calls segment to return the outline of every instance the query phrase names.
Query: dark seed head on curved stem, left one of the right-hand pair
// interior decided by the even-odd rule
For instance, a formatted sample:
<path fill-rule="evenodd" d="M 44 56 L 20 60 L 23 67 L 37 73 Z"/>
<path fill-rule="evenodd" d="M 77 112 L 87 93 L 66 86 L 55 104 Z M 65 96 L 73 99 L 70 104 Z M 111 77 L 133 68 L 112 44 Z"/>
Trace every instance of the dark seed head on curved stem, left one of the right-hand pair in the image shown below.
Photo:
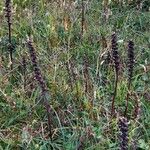
<path fill-rule="evenodd" d="M 116 33 L 112 34 L 112 57 L 115 65 L 116 72 L 119 71 L 119 54 L 118 54 L 118 44 L 117 44 L 117 36 Z"/>

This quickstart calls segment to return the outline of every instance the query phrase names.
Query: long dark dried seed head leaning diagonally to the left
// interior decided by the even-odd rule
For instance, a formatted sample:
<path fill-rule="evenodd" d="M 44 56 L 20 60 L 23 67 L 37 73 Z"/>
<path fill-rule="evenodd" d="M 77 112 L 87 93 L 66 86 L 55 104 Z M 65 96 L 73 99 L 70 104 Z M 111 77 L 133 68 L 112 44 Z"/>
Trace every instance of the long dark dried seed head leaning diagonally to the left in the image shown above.
<path fill-rule="evenodd" d="M 32 65 L 33 65 L 33 69 L 34 69 L 34 73 L 35 73 L 35 78 L 38 81 L 38 83 L 42 89 L 42 93 L 45 93 L 47 91 L 46 84 L 44 82 L 44 79 L 41 74 L 41 70 L 37 63 L 36 52 L 35 52 L 35 48 L 33 46 L 33 42 L 31 40 L 31 38 L 28 39 L 27 45 L 30 50 L 30 57 L 31 57 L 31 61 L 32 61 Z"/>

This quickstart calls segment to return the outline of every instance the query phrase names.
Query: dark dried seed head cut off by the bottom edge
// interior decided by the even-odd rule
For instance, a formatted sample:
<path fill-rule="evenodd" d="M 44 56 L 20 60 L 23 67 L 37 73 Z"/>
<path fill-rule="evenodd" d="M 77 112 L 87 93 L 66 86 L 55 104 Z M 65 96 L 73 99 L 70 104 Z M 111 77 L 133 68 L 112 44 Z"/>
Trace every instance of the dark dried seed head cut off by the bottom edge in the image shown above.
<path fill-rule="evenodd" d="M 119 141 L 120 150 L 128 150 L 128 120 L 125 117 L 119 118 Z"/>

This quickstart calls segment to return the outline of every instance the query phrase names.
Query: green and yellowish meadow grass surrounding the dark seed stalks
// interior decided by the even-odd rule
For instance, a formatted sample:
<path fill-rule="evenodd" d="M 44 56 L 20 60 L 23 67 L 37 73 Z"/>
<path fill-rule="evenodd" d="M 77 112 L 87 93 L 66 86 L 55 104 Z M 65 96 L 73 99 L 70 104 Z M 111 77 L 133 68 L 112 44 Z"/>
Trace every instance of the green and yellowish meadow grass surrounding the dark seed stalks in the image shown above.
<path fill-rule="evenodd" d="M 107 61 L 111 35 L 115 31 L 121 58 L 115 109 L 119 114 L 125 110 L 127 42 L 133 40 L 135 66 L 128 108 L 129 149 L 137 145 L 138 149 L 149 150 L 150 12 L 144 6 L 138 11 L 135 4 L 126 2 L 121 7 L 110 1 L 106 7 L 110 16 L 104 20 L 102 1 L 85 1 L 81 40 L 81 1 L 76 1 L 75 6 L 73 3 L 67 6 L 69 2 L 66 6 L 59 4 L 47 0 L 13 0 L 14 64 L 10 69 L 5 4 L 0 1 L 0 149 L 119 149 L 118 117 L 110 116 L 114 68 L 111 59 Z M 38 64 L 49 91 L 52 140 L 48 136 L 46 110 L 40 102 L 41 89 L 34 80 L 26 45 L 29 34 L 33 36 Z M 86 90 L 85 83 L 88 83 Z M 132 113 L 137 99 L 140 116 L 134 120 Z"/>

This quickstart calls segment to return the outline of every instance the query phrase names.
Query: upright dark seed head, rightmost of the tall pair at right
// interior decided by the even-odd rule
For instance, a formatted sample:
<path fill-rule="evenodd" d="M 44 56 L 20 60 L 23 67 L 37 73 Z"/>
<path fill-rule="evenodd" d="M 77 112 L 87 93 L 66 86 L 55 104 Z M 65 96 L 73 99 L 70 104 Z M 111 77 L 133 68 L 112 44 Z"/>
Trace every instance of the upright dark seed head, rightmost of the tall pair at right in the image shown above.
<path fill-rule="evenodd" d="M 128 75 L 129 82 L 131 82 L 131 78 L 133 75 L 133 67 L 134 67 L 134 43 L 132 41 L 128 42 Z"/>

